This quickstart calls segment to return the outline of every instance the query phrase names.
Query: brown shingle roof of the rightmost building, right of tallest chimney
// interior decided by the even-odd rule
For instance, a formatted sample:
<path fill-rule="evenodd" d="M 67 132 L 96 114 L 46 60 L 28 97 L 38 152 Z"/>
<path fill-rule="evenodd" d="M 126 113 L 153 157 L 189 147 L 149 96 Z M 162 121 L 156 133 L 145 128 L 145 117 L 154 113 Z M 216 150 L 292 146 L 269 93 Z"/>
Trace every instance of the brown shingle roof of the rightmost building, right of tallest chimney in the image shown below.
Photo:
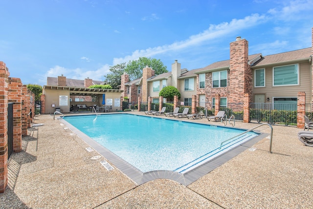
<path fill-rule="evenodd" d="M 294 51 L 283 52 L 279 54 L 272 54 L 264 56 L 253 66 L 272 65 L 275 63 L 291 62 L 296 60 L 310 59 L 312 55 L 312 48 L 303 48 Z"/>

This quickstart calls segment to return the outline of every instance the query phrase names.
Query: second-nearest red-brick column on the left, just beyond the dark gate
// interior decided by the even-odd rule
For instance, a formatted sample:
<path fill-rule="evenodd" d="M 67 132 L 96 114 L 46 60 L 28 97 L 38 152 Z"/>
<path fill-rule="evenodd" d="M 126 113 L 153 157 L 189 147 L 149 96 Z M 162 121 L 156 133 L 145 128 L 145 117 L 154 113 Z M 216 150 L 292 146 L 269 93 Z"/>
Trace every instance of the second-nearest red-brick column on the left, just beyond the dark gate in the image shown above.
<path fill-rule="evenodd" d="M 22 82 L 9 78 L 8 101 L 13 102 L 13 151 L 22 150 Z"/>

